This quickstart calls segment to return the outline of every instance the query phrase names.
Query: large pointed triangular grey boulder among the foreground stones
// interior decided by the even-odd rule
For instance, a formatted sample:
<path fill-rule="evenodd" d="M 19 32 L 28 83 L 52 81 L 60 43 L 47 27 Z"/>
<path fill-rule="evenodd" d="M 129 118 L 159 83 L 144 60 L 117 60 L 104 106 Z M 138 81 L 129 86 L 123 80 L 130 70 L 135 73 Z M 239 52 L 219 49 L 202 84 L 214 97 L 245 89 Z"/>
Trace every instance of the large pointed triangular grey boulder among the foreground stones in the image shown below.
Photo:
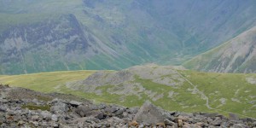
<path fill-rule="evenodd" d="M 138 123 L 154 125 L 163 123 L 166 117 L 160 108 L 155 107 L 151 102 L 145 102 L 135 115 L 134 120 Z"/>

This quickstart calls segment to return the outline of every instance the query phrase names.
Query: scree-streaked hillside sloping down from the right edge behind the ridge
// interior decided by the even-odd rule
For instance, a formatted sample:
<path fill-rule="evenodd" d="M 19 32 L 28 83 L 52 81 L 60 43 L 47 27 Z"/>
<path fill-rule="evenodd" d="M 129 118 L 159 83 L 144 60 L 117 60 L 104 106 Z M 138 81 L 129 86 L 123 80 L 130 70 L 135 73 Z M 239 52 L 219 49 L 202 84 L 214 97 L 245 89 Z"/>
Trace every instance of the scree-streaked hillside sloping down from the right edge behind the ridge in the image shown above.
<path fill-rule="evenodd" d="M 256 26 L 183 66 L 207 72 L 256 73 Z"/>

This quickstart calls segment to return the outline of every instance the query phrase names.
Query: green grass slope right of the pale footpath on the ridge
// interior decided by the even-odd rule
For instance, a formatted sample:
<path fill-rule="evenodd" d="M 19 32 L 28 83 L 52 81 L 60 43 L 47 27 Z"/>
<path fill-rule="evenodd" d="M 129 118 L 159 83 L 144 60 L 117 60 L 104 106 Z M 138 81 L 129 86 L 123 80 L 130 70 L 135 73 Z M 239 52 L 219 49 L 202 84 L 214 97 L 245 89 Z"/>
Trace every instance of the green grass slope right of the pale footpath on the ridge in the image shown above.
<path fill-rule="evenodd" d="M 209 105 L 216 108 L 218 113 L 239 113 L 241 117 L 256 117 L 255 103 L 250 103 L 256 100 L 256 84 L 247 81 L 247 78 L 256 79 L 256 74 L 201 73 L 191 70 L 181 73 L 209 98 Z M 221 98 L 226 99 L 223 105 Z"/>

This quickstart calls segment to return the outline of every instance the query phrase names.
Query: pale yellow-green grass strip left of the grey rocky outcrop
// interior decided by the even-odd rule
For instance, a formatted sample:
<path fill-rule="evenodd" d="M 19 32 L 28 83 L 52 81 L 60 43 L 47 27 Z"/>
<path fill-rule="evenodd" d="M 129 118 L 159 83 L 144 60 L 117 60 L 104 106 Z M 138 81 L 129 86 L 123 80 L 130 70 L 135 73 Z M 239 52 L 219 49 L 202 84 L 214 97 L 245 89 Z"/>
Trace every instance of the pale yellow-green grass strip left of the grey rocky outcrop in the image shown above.
<path fill-rule="evenodd" d="M 3 75 L 0 76 L 0 83 L 49 93 L 55 92 L 58 85 L 79 79 L 86 79 L 91 73 L 95 72 L 93 70 L 81 70 L 10 76 Z"/>

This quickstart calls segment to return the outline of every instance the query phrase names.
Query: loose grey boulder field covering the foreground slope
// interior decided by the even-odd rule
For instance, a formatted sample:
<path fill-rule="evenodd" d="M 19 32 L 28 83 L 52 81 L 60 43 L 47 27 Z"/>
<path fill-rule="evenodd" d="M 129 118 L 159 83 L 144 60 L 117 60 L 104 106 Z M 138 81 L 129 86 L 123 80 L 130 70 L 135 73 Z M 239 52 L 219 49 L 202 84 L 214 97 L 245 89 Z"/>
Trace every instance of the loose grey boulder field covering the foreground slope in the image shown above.
<path fill-rule="evenodd" d="M 43 94 L 0 84 L 0 127 L 256 127 L 256 119 L 218 113 L 166 112 L 145 102 L 141 108 L 93 104 L 76 96 Z"/>

